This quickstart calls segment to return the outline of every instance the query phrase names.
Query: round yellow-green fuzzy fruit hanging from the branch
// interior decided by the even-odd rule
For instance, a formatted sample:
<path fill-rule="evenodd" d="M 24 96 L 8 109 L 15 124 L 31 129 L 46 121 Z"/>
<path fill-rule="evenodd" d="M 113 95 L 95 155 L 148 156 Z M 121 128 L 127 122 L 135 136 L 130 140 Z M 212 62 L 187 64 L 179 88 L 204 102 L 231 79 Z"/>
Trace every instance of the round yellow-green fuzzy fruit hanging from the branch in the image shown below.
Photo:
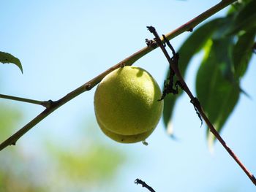
<path fill-rule="evenodd" d="M 144 141 L 162 115 L 161 90 L 146 70 L 124 66 L 106 75 L 94 94 L 94 111 L 103 133 L 116 142 Z"/>

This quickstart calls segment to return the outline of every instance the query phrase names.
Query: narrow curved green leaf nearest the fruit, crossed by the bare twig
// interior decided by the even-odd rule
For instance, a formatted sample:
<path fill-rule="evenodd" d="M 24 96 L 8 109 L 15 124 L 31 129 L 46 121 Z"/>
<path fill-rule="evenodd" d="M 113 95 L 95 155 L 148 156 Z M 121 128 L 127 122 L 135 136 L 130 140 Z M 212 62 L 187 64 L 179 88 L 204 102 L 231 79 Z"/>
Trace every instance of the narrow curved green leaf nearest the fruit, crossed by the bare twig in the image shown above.
<path fill-rule="evenodd" d="M 197 30 L 195 30 L 184 42 L 184 44 L 178 50 L 180 55 L 178 66 L 182 75 L 185 74 L 189 61 L 192 59 L 192 57 L 203 48 L 207 40 L 211 38 L 211 35 L 219 27 L 219 24 L 223 22 L 223 18 L 217 18 L 205 23 L 203 26 L 200 26 L 200 28 L 197 28 Z M 167 77 L 169 76 L 168 74 L 169 72 L 167 73 Z M 180 95 L 181 94 L 178 94 L 178 96 Z M 178 96 L 169 94 L 165 97 L 163 119 L 166 128 L 170 128 L 168 126 L 170 126 L 170 120 L 172 118 L 173 109 Z"/>

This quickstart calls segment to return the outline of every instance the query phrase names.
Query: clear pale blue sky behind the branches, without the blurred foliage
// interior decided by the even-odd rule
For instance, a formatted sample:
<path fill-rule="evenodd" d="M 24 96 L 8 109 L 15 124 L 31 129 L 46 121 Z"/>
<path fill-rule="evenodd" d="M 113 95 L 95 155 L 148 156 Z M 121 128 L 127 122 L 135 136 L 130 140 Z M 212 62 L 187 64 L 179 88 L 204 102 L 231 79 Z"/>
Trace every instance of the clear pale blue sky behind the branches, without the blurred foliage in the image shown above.
<path fill-rule="evenodd" d="M 217 2 L 2 0 L 0 50 L 20 58 L 24 74 L 14 65 L 1 65 L 0 93 L 38 100 L 59 99 L 145 47 L 145 39 L 152 38 L 146 26 L 155 26 L 159 34 L 166 34 Z M 224 14 L 222 11 L 211 18 Z M 173 39 L 173 46 L 178 49 L 187 35 L 189 33 Z M 195 72 L 201 56 L 193 59 L 187 72 L 187 82 L 194 93 Z M 256 66 L 253 64 L 255 58 L 242 80 L 242 88 L 252 99 L 240 97 L 222 136 L 256 174 L 256 91 L 252 83 Z M 159 50 L 141 58 L 135 66 L 143 67 L 159 85 L 163 84 L 167 61 Z M 28 151 L 36 150 L 38 140 L 45 137 L 54 139 L 56 145 L 72 145 L 82 121 L 84 128 L 86 122 L 96 122 L 94 91 L 95 88 L 65 104 L 29 131 L 18 145 L 26 146 Z M 16 101 L 0 102 L 23 110 L 24 118 L 18 128 L 42 110 Z M 122 191 L 146 191 L 134 185 L 136 178 L 145 180 L 156 191 L 255 191 L 251 181 L 218 142 L 214 153 L 209 152 L 206 128 L 200 128 L 200 120 L 186 95 L 176 105 L 173 128 L 178 141 L 167 136 L 161 120 L 148 138 L 147 147 L 141 143 L 118 144 L 97 129 L 106 145 L 116 146 L 132 158 L 133 163 L 122 167 L 116 176 Z M 94 135 L 84 135 L 86 137 Z M 29 145 L 30 142 L 35 145 Z M 37 155 L 37 158 L 42 157 Z M 120 185 L 111 185 L 113 191 L 120 189 Z"/>

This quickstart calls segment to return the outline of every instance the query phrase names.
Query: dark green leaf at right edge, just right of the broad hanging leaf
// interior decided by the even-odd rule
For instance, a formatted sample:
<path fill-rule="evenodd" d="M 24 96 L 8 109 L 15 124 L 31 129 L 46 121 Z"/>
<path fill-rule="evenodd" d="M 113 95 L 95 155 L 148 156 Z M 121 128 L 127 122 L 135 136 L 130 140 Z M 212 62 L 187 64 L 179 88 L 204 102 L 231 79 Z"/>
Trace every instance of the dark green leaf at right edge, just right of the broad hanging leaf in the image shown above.
<path fill-rule="evenodd" d="M 235 68 L 235 77 L 239 79 L 244 76 L 249 60 L 252 57 L 252 47 L 255 43 L 256 28 L 242 34 L 233 48 L 233 64 Z"/>

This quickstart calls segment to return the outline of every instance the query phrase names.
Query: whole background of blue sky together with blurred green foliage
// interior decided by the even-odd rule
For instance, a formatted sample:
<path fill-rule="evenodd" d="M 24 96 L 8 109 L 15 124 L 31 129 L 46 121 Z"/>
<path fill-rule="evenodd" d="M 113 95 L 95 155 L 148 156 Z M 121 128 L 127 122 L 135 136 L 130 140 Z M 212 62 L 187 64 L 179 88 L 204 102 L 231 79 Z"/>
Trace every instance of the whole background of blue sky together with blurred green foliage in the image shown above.
<path fill-rule="evenodd" d="M 0 50 L 20 58 L 24 73 L 0 65 L 0 93 L 56 100 L 110 66 L 145 47 L 146 26 L 166 34 L 219 1 L 0 1 Z M 225 15 L 222 10 L 212 18 Z M 176 49 L 189 33 L 171 42 Z M 187 83 L 195 93 L 202 54 L 189 65 Z M 135 63 L 159 85 L 167 61 L 154 50 Z M 242 80 L 242 95 L 222 137 L 256 174 L 255 56 Z M 69 101 L 0 152 L 0 191 L 255 191 L 217 142 L 208 150 L 206 127 L 186 95 L 176 105 L 171 139 L 162 123 L 142 143 L 123 145 L 100 131 L 94 117 L 95 88 Z M 43 107 L 0 99 L 0 142 Z"/>

